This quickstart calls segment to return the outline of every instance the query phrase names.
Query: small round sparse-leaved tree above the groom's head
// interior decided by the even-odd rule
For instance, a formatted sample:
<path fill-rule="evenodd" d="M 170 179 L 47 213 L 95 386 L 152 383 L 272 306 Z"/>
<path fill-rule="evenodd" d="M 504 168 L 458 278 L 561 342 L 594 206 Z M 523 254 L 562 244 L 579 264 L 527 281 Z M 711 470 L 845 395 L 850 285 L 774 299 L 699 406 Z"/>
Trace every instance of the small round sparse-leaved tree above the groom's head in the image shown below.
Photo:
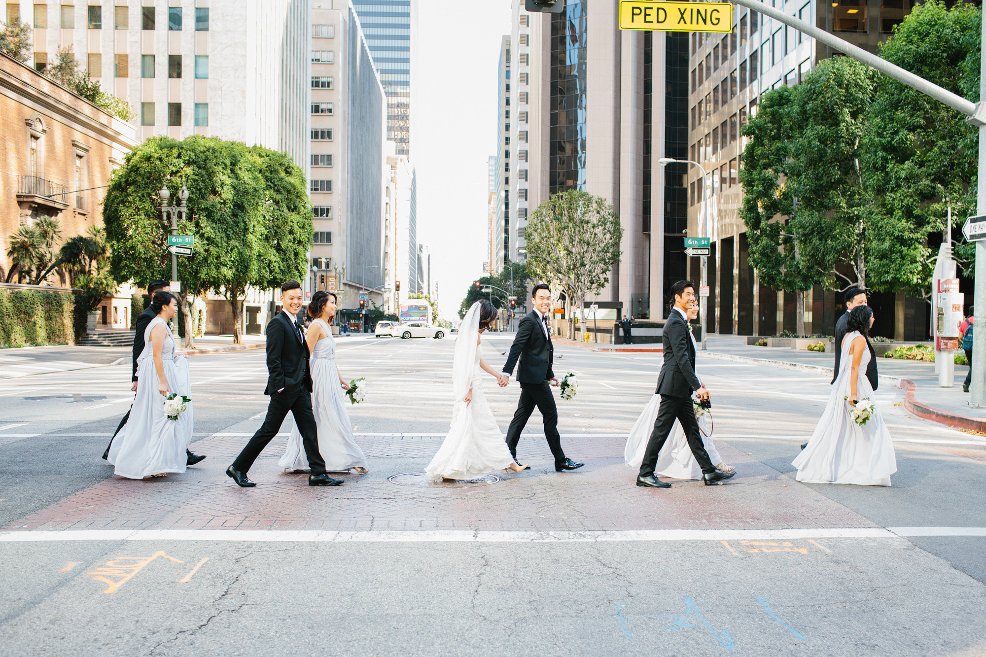
<path fill-rule="evenodd" d="M 529 275 L 563 288 L 581 313 L 586 297 L 599 294 L 609 282 L 622 236 L 619 217 L 606 199 L 588 191 L 556 193 L 528 218 Z M 573 323 L 569 336 L 575 336 Z"/>

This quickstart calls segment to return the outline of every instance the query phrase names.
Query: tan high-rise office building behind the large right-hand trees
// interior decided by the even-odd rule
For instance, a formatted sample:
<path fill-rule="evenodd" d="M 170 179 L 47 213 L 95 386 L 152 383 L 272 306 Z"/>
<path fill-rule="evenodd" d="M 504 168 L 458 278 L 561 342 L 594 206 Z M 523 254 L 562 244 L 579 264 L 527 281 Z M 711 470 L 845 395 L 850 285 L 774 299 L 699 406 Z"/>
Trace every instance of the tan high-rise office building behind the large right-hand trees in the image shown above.
<path fill-rule="evenodd" d="M 812 3 L 795 0 L 783 7 L 786 14 L 835 34 L 871 52 L 890 36 L 893 26 L 910 12 L 911 3 Z M 655 33 L 657 34 L 657 33 Z M 706 193 L 710 220 L 704 220 L 703 179 L 697 167 L 688 168 L 688 235 L 708 237 L 709 300 L 704 325 L 708 332 L 772 335 L 797 328 L 794 293 L 778 292 L 760 283 L 748 260 L 745 226 L 740 218 L 742 187 L 739 170 L 747 139 L 741 129 L 756 115 L 763 94 L 782 85 L 800 84 L 832 48 L 797 30 L 737 7 L 730 34 L 696 33 L 685 36 L 688 64 L 688 159 L 709 172 Z M 670 157 L 683 157 L 677 146 Z M 670 167 L 669 167 L 670 169 Z M 675 176 L 680 170 L 674 170 Z M 678 221 L 675 212 L 675 221 Z M 700 260 L 689 258 L 688 273 L 698 282 Z M 806 294 L 805 329 L 832 334 L 843 309 L 841 295 L 816 285 Z M 898 339 L 924 339 L 925 302 L 903 293 L 871 293 L 880 325 L 877 334 Z"/>

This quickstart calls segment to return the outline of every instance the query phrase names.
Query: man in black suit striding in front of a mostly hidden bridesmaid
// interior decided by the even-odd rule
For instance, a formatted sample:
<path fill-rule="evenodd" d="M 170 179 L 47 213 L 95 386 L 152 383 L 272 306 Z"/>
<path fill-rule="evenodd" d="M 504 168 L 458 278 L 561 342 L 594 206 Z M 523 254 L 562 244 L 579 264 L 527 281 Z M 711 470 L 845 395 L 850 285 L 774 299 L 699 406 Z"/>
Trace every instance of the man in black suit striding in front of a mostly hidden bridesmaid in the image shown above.
<path fill-rule="evenodd" d="M 695 345 L 688 335 L 688 305 L 695 301 L 695 285 L 690 280 L 679 280 L 671 285 L 671 295 L 674 306 L 671 308 L 668 321 L 665 323 L 662 339 L 664 342 L 665 363 L 658 377 L 658 390 L 661 395 L 661 408 L 658 419 L 654 422 L 654 431 L 644 452 L 644 461 L 640 465 L 637 476 L 638 486 L 650 488 L 670 488 L 671 484 L 662 481 L 654 475 L 661 448 L 668 440 L 674 420 L 681 423 L 684 435 L 688 438 L 688 447 L 695 455 L 702 469 L 702 480 L 705 485 L 713 485 L 723 479 L 728 479 L 732 473 L 716 470 L 709 459 L 709 453 L 702 444 L 699 434 L 698 421 L 695 419 L 695 409 L 692 405 L 691 394 L 698 393 L 698 398 L 708 401 L 709 391 L 695 376 Z"/>

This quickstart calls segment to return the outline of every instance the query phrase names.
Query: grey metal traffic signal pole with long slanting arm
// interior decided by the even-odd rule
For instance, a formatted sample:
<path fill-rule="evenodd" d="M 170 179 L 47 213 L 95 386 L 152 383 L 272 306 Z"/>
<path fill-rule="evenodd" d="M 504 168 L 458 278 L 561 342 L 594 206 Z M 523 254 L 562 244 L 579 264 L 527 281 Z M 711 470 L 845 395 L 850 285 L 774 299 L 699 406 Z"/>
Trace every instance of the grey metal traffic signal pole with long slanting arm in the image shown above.
<path fill-rule="evenodd" d="M 944 103 L 952 110 L 958 110 L 965 114 L 965 120 L 975 125 L 979 130 L 979 168 L 978 184 L 976 197 L 976 214 L 980 217 L 986 215 L 986 105 L 982 99 L 986 99 L 986 57 L 980 57 L 979 64 L 979 103 L 952 94 L 948 89 L 939 87 L 933 82 L 925 80 L 919 75 L 914 75 L 895 64 L 891 64 L 885 59 L 867 52 L 852 43 L 843 40 L 835 35 L 829 34 L 810 23 L 788 16 L 784 12 L 771 7 L 759 0 L 733 0 L 736 4 L 760 12 L 764 16 L 791 26 L 795 30 L 808 35 L 818 41 L 828 45 L 840 52 L 844 52 L 853 59 L 857 59 L 868 66 L 888 75 L 894 80 L 901 82 L 912 89 L 916 89 L 922 94 L 929 96 L 940 103 Z M 982 41 L 986 43 L 986 21 L 982 24 Z M 975 259 L 975 292 L 973 293 L 973 305 L 983 312 L 986 310 L 986 242 L 976 241 Z M 982 317 L 986 317 L 983 312 Z M 986 323 L 984 323 L 986 324 Z M 971 399 L 969 405 L 979 407 L 986 401 L 986 330 L 972 331 L 972 385 L 970 387 Z"/>

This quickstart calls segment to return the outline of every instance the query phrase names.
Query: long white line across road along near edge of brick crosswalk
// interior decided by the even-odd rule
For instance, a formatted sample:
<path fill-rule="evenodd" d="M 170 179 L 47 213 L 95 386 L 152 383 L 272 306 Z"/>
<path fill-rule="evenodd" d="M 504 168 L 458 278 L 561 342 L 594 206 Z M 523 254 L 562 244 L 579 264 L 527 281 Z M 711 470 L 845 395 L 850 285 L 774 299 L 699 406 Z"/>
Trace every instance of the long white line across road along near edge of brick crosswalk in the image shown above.
<path fill-rule="evenodd" d="M 921 528 L 934 530 L 936 528 Z M 951 528 L 946 528 L 951 529 Z M 933 535 L 927 535 L 933 536 Z M 946 536 L 953 536 L 947 534 Z M 978 536 L 978 535 L 976 535 Z M 762 539 L 897 539 L 880 527 L 787 530 L 616 530 L 612 532 L 407 532 L 317 530 L 60 530 L 4 532 L 0 543 L 45 541 L 251 541 L 299 543 L 608 543 L 613 541 L 739 541 Z"/>

